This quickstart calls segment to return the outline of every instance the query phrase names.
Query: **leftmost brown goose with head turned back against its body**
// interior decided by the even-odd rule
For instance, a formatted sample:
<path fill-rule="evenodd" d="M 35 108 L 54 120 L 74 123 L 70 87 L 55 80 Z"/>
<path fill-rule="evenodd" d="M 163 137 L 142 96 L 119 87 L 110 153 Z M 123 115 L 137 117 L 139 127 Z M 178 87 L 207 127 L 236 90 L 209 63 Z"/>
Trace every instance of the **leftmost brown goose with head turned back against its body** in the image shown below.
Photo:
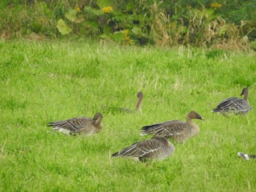
<path fill-rule="evenodd" d="M 95 113 L 94 118 L 81 117 L 59 120 L 48 123 L 48 126 L 53 126 L 53 131 L 59 131 L 60 133 L 67 135 L 83 134 L 85 136 L 90 136 L 102 129 L 102 118 L 102 114 L 97 112 Z"/>

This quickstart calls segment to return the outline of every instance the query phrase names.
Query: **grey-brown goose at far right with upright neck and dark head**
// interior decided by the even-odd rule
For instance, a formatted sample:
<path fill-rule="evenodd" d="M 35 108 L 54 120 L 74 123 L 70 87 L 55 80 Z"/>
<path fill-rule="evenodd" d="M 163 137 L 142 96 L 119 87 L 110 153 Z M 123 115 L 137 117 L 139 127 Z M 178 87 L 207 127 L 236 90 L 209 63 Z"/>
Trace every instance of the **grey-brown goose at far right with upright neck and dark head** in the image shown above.
<path fill-rule="evenodd" d="M 252 110 L 252 107 L 249 106 L 248 101 L 248 89 L 243 88 L 241 96 L 244 95 L 244 99 L 238 97 L 230 97 L 221 101 L 217 108 L 211 112 L 220 112 L 222 115 L 228 115 L 230 113 L 235 113 L 236 115 L 246 115 L 247 112 Z"/>

